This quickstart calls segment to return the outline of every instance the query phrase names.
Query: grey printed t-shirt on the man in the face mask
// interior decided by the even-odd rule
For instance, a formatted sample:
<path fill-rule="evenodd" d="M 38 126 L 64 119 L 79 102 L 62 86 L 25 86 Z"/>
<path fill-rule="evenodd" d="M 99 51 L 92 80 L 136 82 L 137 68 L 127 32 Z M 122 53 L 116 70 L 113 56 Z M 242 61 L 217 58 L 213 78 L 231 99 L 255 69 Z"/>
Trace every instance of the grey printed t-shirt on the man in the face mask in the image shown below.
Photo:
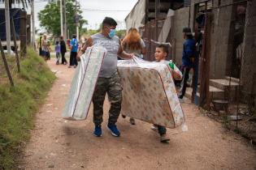
<path fill-rule="evenodd" d="M 110 78 L 117 70 L 117 52 L 120 46 L 119 37 L 114 36 L 113 38 L 109 38 L 102 35 L 102 33 L 94 34 L 91 37 L 93 39 L 93 45 L 102 45 L 107 50 L 99 77 Z"/>

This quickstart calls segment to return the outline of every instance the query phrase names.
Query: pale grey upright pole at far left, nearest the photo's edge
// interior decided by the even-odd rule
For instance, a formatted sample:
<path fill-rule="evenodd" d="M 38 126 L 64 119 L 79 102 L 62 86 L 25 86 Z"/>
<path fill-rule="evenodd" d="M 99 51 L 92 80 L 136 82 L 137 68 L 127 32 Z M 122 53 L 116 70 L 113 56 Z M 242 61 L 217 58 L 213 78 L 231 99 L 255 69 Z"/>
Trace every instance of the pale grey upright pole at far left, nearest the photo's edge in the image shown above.
<path fill-rule="evenodd" d="M 10 9 L 9 0 L 5 0 L 6 33 L 7 33 L 7 53 L 11 54 L 11 27 L 10 27 Z"/>

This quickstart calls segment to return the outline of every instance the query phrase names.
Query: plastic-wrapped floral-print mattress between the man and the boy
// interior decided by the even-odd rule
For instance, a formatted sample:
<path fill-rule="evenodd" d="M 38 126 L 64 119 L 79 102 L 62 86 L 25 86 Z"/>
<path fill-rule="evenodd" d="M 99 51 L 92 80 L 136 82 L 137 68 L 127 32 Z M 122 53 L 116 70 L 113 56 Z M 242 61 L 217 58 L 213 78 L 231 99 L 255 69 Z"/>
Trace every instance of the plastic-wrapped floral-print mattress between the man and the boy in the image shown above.
<path fill-rule="evenodd" d="M 168 128 L 184 123 L 168 66 L 135 58 L 119 61 L 118 71 L 123 87 L 122 114 Z"/>

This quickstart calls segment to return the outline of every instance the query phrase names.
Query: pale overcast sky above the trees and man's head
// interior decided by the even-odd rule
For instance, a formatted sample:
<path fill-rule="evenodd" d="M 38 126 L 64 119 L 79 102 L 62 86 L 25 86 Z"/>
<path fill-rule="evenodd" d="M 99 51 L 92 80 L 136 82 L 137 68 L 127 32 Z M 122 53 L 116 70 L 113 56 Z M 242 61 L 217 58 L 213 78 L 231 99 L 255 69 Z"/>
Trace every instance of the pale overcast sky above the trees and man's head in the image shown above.
<path fill-rule="evenodd" d="M 47 2 L 35 0 L 36 28 L 39 28 L 37 13 L 44 9 Z M 119 21 L 118 28 L 125 28 L 124 19 L 136 4 L 137 0 L 77 0 L 80 2 L 83 17 L 88 20 L 87 28 L 98 28 L 105 16 L 110 16 Z M 0 7 L 4 7 L 0 4 Z M 20 6 L 21 7 L 21 6 Z M 30 9 L 28 9 L 30 13 Z"/>

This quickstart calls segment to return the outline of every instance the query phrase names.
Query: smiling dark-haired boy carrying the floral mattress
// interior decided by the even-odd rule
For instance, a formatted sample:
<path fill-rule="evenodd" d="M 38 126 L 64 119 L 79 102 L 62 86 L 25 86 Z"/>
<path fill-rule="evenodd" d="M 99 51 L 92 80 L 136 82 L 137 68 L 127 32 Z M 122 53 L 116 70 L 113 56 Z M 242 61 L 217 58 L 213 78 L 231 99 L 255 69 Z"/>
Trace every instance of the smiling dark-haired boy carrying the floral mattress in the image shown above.
<path fill-rule="evenodd" d="M 170 62 L 166 60 L 167 55 L 168 55 L 167 45 L 158 45 L 158 47 L 155 49 L 155 53 L 154 53 L 155 62 L 161 62 L 161 63 L 169 66 Z M 170 69 L 171 69 L 171 75 L 172 75 L 173 79 L 177 79 L 177 80 L 182 79 L 182 74 L 181 74 L 180 70 L 176 67 L 176 65 L 173 63 L 173 65 L 171 65 L 171 67 L 170 67 Z M 167 137 L 166 127 L 164 127 L 162 125 L 153 125 L 151 129 L 152 130 L 158 129 L 158 134 L 160 134 L 161 142 L 170 141 L 170 138 Z"/>

